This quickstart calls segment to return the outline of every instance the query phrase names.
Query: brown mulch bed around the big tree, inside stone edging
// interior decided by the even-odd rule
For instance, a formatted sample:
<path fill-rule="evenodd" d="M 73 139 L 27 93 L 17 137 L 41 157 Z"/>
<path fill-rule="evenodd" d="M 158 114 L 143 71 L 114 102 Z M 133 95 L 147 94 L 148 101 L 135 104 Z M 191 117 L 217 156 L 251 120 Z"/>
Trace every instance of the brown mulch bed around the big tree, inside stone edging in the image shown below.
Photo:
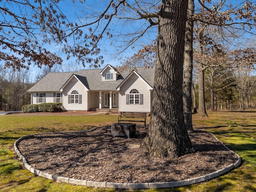
<path fill-rule="evenodd" d="M 136 125 L 133 138 L 112 137 L 109 126 L 86 133 L 37 134 L 18 143 L 34 168 L 57 176 L 98 182 L 170 182 L 215 172 L 237 161 L 216 138 L 203 130 L 189 134 L 193 154 L 178 159 L 154 158 L 142 144 L 147 129 Z"/>

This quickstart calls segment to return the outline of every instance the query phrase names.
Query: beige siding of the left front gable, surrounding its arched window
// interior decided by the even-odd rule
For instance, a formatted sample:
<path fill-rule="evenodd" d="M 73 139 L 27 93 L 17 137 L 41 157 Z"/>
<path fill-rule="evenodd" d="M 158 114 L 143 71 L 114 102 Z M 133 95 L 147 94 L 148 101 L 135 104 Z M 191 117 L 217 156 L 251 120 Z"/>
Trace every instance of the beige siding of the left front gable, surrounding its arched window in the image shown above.
<path fill-rule="evenodd" d="M 82 95 L 82 104 L 69 104 L 68 95 L 76 90 L 79 95 Z M 64 110 L 88 110 L 87 108 L 87 94 L 86 88 L 75 77 L 64 87 L 63 90 L 63 109 Z"/>

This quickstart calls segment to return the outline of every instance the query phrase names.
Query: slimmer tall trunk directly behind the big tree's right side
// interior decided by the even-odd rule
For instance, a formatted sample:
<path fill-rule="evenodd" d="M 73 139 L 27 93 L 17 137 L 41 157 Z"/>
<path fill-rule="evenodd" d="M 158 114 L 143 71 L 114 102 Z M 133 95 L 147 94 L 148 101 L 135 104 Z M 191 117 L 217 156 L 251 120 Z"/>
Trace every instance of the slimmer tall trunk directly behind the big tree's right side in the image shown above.
<path fill-rule="evenodd" d="M 183 77 L 183 110 L 184 121 L 188 132 L 194 132 L 192 126 L 192 71 L 193 71 L 193 27 L 194 0 L 188 0 L 186 21 L 184 77 Z"/>

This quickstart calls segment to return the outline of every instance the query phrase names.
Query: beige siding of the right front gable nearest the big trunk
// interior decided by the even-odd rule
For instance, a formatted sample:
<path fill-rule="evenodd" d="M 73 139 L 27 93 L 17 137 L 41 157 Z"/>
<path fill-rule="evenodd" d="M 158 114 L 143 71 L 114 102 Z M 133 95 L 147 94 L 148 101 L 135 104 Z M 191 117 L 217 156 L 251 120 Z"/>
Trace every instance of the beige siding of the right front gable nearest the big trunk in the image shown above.
<path fill-rule="evenodd" d="M 126 94 L 130 94 L 132 89 L 137 89 L 143 94 L 143 104 L 126 104 Z M 151 93 L 148 85 L 135 73 L 120 87 L 119 111 L 124 112 L 150 112 Z"/>

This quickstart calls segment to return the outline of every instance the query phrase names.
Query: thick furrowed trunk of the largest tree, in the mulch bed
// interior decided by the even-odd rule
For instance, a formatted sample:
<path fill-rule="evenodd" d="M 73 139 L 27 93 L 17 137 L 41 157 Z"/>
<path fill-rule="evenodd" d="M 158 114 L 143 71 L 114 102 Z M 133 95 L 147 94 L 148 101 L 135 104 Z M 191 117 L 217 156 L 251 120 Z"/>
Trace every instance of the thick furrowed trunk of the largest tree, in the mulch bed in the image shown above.
<path fill-rule="evenodd" d="M 187 0 L 162 0 L 150 126 L 143 146 L 151 156 L 194 152 L 186 130 L 182 77 Z"/>

